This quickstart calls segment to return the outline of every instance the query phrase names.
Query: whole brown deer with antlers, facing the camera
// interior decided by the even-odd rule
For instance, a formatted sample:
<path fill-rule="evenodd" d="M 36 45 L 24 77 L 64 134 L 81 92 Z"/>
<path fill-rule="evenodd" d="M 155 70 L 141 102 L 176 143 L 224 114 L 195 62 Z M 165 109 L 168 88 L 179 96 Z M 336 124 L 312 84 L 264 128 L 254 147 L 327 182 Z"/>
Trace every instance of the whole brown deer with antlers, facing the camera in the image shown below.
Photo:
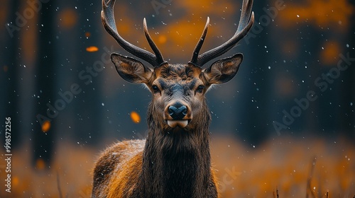
<path fill-rule="evenodd" d="M 187 64 L 170 64 L 148 33 L 153 53 L 124 40 L 114 20 L 115 0 L 102 1 L 105 30 L 124 50 L 148 62 L 113 52 L 119 76 L 143 84 L 151 92 L 146 139 L 119 141 L 99 156 L 93 172 L 92 197 L 219 197 L 216 170 L 209 150 L 211 115 L 205 94 L 215 84 L 234 78 L 243 54 L 204 64 L 231 50 L 251 30 L 253 0 L 244 0 L 236 33 L 219 47 L 200 54 L 209 28 L 209 17 Z"/>

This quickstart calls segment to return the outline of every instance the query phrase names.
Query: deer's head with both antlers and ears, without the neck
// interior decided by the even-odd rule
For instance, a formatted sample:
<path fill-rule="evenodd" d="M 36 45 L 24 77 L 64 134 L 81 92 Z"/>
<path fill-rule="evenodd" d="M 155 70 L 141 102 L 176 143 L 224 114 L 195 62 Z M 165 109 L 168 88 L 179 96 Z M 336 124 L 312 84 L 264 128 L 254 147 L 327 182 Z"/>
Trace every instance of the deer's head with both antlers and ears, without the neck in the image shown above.
<path fill-rule="evenodd" d="M 209 27 L 209 18 L 207 18 L 200 40 L 187 64 L 169 64 L 163 59 L 163 55 L 148 33 L 145 18 L 143 29 L 154 54 L 124 40 L 116 29 L 114 1 L 102 1 L 104 28 L 124 50 L 153 66 L 151 68 L 131 57 L 112 53 L 111 61 L 116 66 L 117 72 L 125 81 L 144 83 L 148 87 L 153 95 L 151 103 L 154 111 L 153 120 L 160 125 L 160 129 L 193 129 L 195 124 L 202 122 L 201 117 L 206 117 L 203 115 L 208 114 L 204 94 L 213 84 L 230 81 L 236 75 L 243 55 L 235 54 L 232 57 L 219 59 L 204 69 L 202 66 L 231 50 L 249 32 L 254 22 L 254 15 L 251 12 L 253 1 L 243 1 L 241 19 L 234 36 L 219 47 L 200 54 Z"/>

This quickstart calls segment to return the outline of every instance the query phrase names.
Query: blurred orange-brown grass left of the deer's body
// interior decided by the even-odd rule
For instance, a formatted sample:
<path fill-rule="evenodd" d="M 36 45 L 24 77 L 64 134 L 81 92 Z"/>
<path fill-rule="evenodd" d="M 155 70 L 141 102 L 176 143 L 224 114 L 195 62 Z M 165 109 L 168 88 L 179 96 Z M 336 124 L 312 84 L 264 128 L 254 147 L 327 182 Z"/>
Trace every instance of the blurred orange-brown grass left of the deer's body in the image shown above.
<path fill-rule="evenodd" d="M 82 149 L 77 145 L 59 144 L 53 155 L 53 162 L 45 167 L 40 159 L 31 165 L 31 147 L 23 146 L 12 151 L 11 193 L 4 190 L 6 173 L 0 169 L 0 197 L 59 197 L 60 185 L 62 197 L 91 197 L 92 176 L 97 149 Z M 4 161 L 4 156 L 0 156 Z M 59 184 L 57 180 L 59 177 Z M 3 180 L 4 178 L 4 180 Z"/>

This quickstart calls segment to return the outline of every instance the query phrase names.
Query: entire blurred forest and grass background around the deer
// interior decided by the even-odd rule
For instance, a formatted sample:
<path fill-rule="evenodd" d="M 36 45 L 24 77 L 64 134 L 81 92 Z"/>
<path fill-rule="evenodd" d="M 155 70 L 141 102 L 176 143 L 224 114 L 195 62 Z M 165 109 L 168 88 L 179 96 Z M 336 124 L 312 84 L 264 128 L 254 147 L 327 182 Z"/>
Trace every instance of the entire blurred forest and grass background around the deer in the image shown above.
<path fill-rule="evenodd" d="M 234 35 L 241 4 L 121 0 L 115 18 L 120 35 L 150 50 L 143 34 L 146 18 L 165 59 L 187 63 L 207 16 L 211 26 L 204 52 Z M 11 117 L 13 152 L 13 194 L 3 190 L 2 155 L 1 197 L 58 197 L 57 183 L 69 197 L 89 197 L 90 168 L 99 151 L 115 140 L 146 136 L 151 94 L 116 73 L 109 54 L 131 55 L 105 32 L 101 9 L 100 0 L 1 1 L 0 142 L 4 145 L 5 117 Z M 239 174 L 232 177 L 234 182 L 220 178 L 222 194 L 272 197 L 263 193 L 280 187 L 295 195 L 297 181 L 305 182 L 301 189 L 306 190 L 312 155 L 317 155 L 329 160 L 324 160 L 329 171 L 321 171 L 319 183 L 332 181 L 336 187 L 328 188 L 331 193 L 334 189 L 339 196 L 346 197 L 346 192 L 352 197 L 354 1 L 259 0 L 253 11 L 251 32 L 223 56 L 244 54 L 239 73 L 207 93 L 217 169 L 222 178 L 234 168 Z M 290 160 L 296 156 L 303 175 L 285 182 L 280 175 L 298 171 Z M 251 169 L 251 163 L 258 168 Z M 256 174 L 256 169 L 270 174 L 273 170 L 273 175 Z M 263 175 L 273 182 L 263 187 L 266 182 L 252 180 L 256 189 L 240 187 L 241 177 L 253 178 L 251 172 L 254 178 Z M 319 183 L 313 192 L 326 192 L 324 187 L 319 190 Z"/>

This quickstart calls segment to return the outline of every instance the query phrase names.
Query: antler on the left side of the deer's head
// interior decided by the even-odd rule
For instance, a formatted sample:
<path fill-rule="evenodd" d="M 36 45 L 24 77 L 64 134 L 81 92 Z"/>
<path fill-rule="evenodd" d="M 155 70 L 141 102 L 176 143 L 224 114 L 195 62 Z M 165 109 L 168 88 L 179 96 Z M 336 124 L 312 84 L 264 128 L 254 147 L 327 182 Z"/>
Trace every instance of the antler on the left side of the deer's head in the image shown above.
<path fill-rule="evenodd" d="M 160 53 L 158 47 L 155 45 L 148 33 L 146 18 L 143 19 L 143 29 L 149 46 L 151 46 L 154 54 L 148 52 L 147 50 L 143 50 L 136 45 L 132 45 L 119 35 L 116 28 L 116 22 L 114 21 L 114 1 L 115 0 L 102 0 L 101 20 L 104 24 L 105 30 L 107 30 L 107 33 L 114 37 L 114 39 L 119 43 L 119 45 L 121 45 L 121 47 L 124 48 L 124 50 L 138 58 L 145 60 L 152 66 L 155 67 L 160 66 L 161 64 L 165 64 L 166 62 L 163 59 L 163 55 Z"/>

